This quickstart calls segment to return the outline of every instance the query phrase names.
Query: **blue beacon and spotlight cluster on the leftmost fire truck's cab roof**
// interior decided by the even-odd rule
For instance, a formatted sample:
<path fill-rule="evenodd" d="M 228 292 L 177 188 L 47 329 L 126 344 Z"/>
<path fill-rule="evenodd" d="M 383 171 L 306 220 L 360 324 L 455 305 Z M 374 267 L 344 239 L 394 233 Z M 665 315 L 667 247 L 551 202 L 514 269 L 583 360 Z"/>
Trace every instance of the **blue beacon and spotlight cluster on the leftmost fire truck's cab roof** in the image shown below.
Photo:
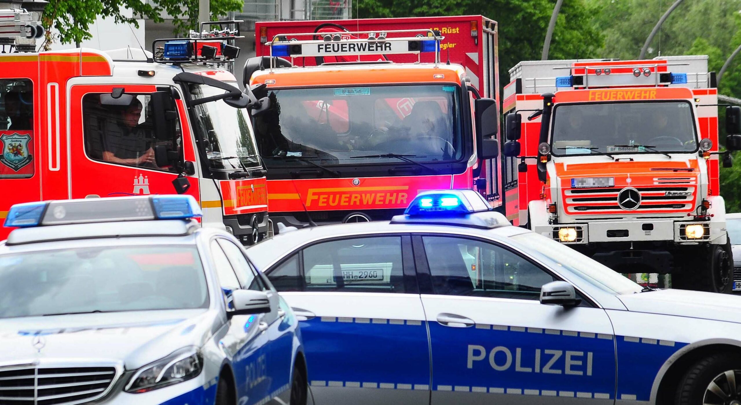
<path fill-rule="evenodd" d="M 239 57 L 239 47 L 234 41 L 245 38 L 239 32 L 241 22 L 207 21 L 199 24 L 199 31 L 190 30 L 188 38 L 155 39 L 152 42 L 154 61 L 176 64 L 233 62 Z M 205 27 L 214 28 L 207 30 Z"/>

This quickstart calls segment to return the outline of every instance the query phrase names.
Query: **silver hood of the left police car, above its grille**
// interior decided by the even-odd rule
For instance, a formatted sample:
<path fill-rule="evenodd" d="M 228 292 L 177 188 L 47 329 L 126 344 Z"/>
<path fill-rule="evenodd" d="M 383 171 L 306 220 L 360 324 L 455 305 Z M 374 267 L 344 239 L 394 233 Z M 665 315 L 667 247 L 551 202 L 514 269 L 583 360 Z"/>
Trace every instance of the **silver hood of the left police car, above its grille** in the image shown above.
<path fill-rule="evenodd" d="M 28 361 L 121 361 L 138 369 L 187 346 L 202 347 L 219 312 L 182 309 L 0 319 L 0 366 Z"/>

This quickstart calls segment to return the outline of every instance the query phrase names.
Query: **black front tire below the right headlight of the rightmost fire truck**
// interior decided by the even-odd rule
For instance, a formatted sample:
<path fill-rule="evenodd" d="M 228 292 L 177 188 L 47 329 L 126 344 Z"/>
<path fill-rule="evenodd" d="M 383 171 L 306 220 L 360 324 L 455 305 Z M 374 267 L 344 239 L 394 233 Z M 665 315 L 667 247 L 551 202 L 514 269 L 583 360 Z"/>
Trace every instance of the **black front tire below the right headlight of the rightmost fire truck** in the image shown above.
<path fill-rule="evenodd" d="M 725 245 L 711 244 L 705 249 L 685 252 L 679 257 L 681 271 L 671 275 L 671 287 L 730 293 L 734 271 L 731 254 L 728 238 Z"/>

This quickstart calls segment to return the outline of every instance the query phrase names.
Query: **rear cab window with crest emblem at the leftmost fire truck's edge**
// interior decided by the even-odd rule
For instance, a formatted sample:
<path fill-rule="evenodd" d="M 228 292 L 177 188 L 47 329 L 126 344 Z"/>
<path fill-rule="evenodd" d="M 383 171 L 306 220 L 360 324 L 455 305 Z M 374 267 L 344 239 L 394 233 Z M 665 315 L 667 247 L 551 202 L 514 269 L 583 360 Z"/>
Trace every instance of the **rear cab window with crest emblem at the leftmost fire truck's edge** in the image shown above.
<path fill-rule="evenodd" d="M 0 80 L 0 178 L 33 176 L 33 83 Z"/>

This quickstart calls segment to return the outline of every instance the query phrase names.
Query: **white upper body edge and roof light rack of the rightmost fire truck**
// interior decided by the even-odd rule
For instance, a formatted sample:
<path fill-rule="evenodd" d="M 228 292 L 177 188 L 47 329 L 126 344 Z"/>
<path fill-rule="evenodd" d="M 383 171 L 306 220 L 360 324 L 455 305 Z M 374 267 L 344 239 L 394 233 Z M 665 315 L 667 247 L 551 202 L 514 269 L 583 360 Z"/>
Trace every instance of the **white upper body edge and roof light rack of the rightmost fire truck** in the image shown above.
<path fill-rule="evenodd" d="M 645 61 L 522 61 L 510 70 L 510 78 L 511 81 L 519 81 L 518 93 L 554 93 L 563 88 L 658 87 L 671 84 L 708 88 L 715 86 L 715 75 L 708 72 L 707 58 L 662 56 Z M 558 75 L 559 70 L 568 70 L 571 76 Z"/>

